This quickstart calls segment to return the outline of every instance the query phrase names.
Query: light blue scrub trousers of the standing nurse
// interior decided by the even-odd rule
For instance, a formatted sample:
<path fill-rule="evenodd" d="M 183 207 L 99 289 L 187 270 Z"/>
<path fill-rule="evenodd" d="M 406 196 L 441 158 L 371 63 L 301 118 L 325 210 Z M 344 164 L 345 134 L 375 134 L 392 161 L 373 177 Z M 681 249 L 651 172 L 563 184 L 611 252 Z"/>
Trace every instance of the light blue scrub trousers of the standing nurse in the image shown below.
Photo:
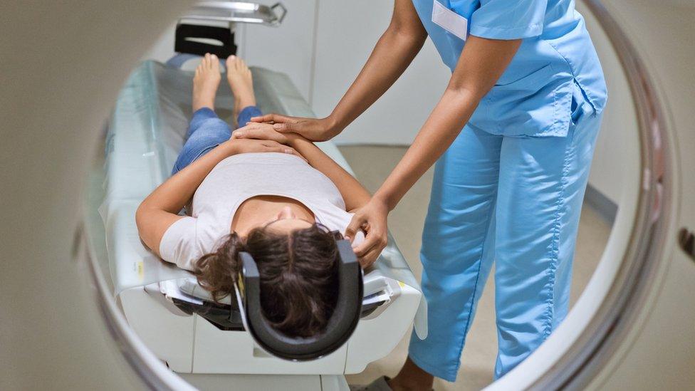
<path fill-rule="evenodd" d="M 434 171 L 422 234 L 429 335 L 409 357 L 456 380 L 461 350 L 495 265 L 500 377 L 568 312 L 572 259 L 601 115 L 582 103 L 567 137 L 507 137 L 466 126 Z"/>

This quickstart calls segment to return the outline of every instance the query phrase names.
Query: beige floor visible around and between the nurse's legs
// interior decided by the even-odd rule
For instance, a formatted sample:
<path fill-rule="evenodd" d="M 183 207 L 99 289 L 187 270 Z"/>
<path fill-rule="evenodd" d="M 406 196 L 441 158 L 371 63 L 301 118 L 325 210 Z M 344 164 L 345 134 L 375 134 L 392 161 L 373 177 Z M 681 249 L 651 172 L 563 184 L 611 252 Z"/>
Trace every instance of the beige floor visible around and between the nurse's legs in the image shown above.
<path fill-rule="evenodd" d="M 374 192 L 387 177 L 405 152 L 405 147 L 384 146 L 345 146 L 340 147 L 357 179 Z M 419 278 L 420 234 L 432 185 L 432 170 L 406 194 L 398 207 L 390 214 L 389 227 L 399 249 L 407 259 L 411 269 Z M 577 250 L 575 254 L 572 297 L 570 306 L 577 301 L 592 272 L 600 260 L 610 234 L 610 223 L 591 207 L 582 209 Z M 493 276 L 493 273 L 490 273 Z M 456 382 L 435 380 L 434 390 L 462 391 L 481 390 L 492 382 L 493 367 L 497 354 L 497 334 L 495 326 L 494 281 L 489 278 L 469 335 L 461 355 L 461 368 Z M 366 384 L 380 375 L 394 376 L 407 356 L 409 334 L 391 355 L 367 366 L 357 375 L 349 375 L 350 384 Z"/>

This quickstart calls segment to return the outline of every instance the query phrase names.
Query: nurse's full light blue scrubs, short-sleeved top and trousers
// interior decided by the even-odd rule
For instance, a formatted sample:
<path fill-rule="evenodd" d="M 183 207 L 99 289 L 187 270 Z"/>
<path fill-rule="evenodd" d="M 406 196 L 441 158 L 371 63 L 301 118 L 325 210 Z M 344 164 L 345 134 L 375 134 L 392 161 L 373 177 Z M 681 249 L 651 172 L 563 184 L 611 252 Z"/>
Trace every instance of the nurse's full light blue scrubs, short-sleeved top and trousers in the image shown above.
<path fill-rule="evenodd" d="M 435 167 L 421 252 L 430 331 L 409 348 L 419 367 L 456 380 L 494 260 L 500 377 L 567 314 L 605 80 L 574 1 L 413 4 L 451 71 L 471 35 L 523 40 Z"/>

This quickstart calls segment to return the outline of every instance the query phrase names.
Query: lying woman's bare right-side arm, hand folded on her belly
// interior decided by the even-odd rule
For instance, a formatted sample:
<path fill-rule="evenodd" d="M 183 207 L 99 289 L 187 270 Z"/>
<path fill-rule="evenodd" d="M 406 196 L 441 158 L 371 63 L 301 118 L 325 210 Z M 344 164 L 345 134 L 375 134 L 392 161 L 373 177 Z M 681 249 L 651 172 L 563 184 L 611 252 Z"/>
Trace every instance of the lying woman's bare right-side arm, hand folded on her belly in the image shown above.
<path fill-rule="evenodd" d="M 299 152 L 305 160 L 316 170 L 328 177 L 335 187 L 338 187 L 340 194 L 345 200 L 345 209 L 348 212 L 366 204 L 371 194 L 352 177 L 349 172 L 340 167 L 333 159 L 326 155 L 313 142 L 307 140 L 296 133 L 281 133 L 273 129 L 273 125 L 262 123 L 250 123 L 232 133 L 232 138 L 273 140 L 282 144 L 290 145 Z"/>

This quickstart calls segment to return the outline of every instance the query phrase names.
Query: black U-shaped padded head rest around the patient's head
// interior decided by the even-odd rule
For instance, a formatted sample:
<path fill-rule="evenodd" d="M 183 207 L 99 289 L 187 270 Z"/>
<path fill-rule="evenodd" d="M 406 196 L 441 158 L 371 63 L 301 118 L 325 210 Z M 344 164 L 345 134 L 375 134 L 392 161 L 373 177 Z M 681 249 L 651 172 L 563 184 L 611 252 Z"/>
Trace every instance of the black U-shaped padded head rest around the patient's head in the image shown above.
<path fill-rule="evenodd" d="M 241 252 L 242 272 L 237 287 L 243 296 L 247 330 L 264 350 L 287 360 L 313 360 L 333 353 L 350 338 L 362 309 L 362 269 L 347 240 L 336 241 L 338 264 L 338 302 L 323 333 L 295 338 L 274 329 L 261 311 L 261 278 L 251 254 Z M 239 283 L 240 282 L 240 283 Z"/>

